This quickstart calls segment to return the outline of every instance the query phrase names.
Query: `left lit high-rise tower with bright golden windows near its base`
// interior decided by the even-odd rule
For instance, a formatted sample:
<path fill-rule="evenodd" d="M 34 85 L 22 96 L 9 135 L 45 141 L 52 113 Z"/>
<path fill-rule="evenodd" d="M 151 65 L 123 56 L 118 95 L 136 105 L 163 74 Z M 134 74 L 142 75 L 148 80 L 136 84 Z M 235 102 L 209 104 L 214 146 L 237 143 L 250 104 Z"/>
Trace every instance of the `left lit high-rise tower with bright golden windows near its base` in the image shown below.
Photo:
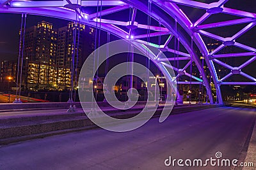
<path fill-rule="evenodd" d="M 49 22 L 38 22 L 36 27 L 36 52 L 29 58 L 25 55 L 27 71 L 22 82 L 26 88 L 34 85 L 48 85 L 56 81 L 54 76 L 54 61 L 56 59 L 57 31 Z M 29 46 L 28 46 L 29 48 Z"/>

